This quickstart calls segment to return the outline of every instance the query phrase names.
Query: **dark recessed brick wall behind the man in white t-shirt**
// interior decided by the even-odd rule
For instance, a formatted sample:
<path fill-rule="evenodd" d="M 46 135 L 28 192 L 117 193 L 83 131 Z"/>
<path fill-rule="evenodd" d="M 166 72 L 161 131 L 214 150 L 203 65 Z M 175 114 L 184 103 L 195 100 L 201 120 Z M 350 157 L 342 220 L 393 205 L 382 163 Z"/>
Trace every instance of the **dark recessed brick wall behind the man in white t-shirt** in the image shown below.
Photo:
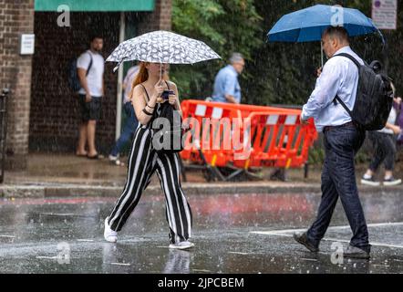
<path fill-rule="evenodd" d="M 95 31 L 104 38 L 102 55 L 119 44 L 119 13 L 71 13 L 70 26 L 57 26 L 57 13 L 36 12 L 36 54 L 33 60 L 29 148 L 32 151 L 75 151 L 80 111 L 68 88 L 67 68 L 88 46 Z M 115 138 L 118 74 L 106 63 L 106 96 L 97 124 L 98 151 L 109 151 Z"/>

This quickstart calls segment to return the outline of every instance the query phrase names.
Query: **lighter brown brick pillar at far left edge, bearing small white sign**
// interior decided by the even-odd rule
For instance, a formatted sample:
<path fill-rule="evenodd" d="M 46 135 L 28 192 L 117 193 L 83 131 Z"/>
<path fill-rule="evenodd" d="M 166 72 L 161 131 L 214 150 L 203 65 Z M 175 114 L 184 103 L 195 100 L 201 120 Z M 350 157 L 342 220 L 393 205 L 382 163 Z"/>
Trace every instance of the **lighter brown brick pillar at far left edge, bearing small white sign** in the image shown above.
<path fill-rule="evenodd" d="M 0 0 L 0 89 L 8 99 L 6 168 L 24 169 L 28 152 L 32 56 L 20 56 L 20 34 L 34 31 L 34 0 Z"/>

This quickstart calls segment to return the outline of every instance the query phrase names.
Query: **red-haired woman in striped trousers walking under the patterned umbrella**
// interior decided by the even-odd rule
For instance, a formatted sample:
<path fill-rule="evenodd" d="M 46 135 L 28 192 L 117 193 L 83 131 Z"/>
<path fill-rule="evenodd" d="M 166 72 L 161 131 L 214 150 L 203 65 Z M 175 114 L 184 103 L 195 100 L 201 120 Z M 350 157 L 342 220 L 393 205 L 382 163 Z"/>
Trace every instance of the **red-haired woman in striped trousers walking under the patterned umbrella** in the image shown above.
<path fill-rule="evenodd" d="M 117 242 L 118 232 L 139 203 L 141 193 L 157 172 L 165 194 L 167 220 L 170 226 L 170 248 L 187 249 L 193 244 L 191 237 L 191 207 L 187 202 L 180 181 L 178 153 L 157 152 L 152 145 L 151 123 L 157 116 L 159 103 L 169 102 L 181 112 L 176 85 L 161 76 L 167 64 L 141 62 L 140 71 L 132 85 L 131 101 L 139 120 L 129 155 L 129 172 L 123 192 L 109 217 L 105 219 L 104 237 Z M 172 90 L 168 100 L 161 98 L 164 90 Z"/>

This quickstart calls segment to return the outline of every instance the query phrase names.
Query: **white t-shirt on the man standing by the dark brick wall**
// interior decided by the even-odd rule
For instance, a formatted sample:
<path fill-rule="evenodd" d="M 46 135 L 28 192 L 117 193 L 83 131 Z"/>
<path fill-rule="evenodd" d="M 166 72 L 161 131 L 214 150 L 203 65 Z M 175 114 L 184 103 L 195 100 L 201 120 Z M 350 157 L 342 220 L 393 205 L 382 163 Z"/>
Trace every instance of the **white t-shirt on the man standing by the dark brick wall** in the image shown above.
<path fill-rule="evenodd" d="M 89 68 L 87 75 L 89 94 L 94 98 L 100 98 L 102 96 L 102 82 L 105 68 L 104 58 L 100 54 L 94 54 L 88 49 L 78 57 L 77 68 L 82 68 L 87 71 L 91 61 L 89 54 L 92 56 L 92 66 Z M 78 93 L 86 94 L 86 90 L 81 88 Z"/>

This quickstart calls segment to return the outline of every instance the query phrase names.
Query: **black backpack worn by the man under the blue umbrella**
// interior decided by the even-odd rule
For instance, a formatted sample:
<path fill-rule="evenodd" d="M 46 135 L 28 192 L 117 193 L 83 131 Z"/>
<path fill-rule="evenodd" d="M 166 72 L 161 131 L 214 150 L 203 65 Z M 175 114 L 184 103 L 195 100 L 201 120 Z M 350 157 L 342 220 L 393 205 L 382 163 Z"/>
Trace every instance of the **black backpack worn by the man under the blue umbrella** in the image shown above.
<path fill-rule="evenodd" d="M 353 122 L 361 129 L 383 129 L 387 123 L 393 103 L 393 90 L 390 86 L 390 78 L 384 74 L 377 73 L 373 67 L 367 66 L 367 64 L 361 65 L 351 55 L 342 53 L 336 56 L 348 57 L 352 60 L 358 68 L 359 78 L 353 110 L 349 110 L 338 96 L 334 99 L 335 105 L 336 101 L 340 102 Z"/>

